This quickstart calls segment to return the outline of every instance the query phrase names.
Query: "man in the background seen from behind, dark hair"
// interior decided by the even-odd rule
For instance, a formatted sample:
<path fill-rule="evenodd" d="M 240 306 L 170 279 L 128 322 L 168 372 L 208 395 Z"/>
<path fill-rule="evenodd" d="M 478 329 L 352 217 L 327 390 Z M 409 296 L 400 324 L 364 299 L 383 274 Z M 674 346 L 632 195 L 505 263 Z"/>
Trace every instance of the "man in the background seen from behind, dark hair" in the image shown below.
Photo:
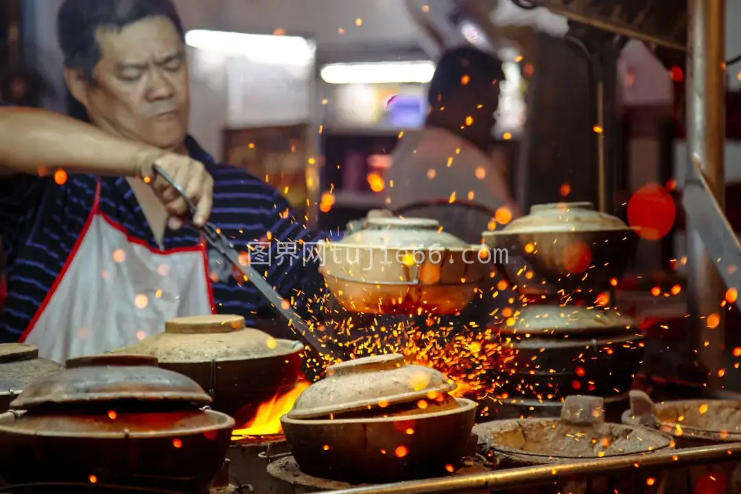
<path fill-rule="evenodd" d="M 393 210 L 454 194 L 459 201 L 514 213 L 502 176 L 505 164 L 489 158 L 502 79 L 502 63 L 473 47 L 442 56 L 430 84 L 425 127 L 405 133 L 392 154 L 393 185 L 387 191 Z"/>

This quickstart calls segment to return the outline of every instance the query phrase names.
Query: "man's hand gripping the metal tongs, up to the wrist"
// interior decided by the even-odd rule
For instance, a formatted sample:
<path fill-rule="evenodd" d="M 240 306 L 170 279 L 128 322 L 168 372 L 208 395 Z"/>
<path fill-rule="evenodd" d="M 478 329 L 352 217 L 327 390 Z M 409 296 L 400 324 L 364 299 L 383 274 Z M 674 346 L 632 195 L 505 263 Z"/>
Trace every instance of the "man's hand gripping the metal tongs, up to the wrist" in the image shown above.
<path fill-rule="evenodd" d="M 167 213 L 170 213 L 167 226 L 172 230 L 182 227 L 183 218 L 187 217 L 190 212 L 178 191 L 170 187 L 165 178 L 157 176 L 152 169 L 154 164 L 159 165 L 172 177 L 175 183 L 185 191 L 185 196 L 196 205 L 193 224 L 196 227 L 202 227 L 208 221 L 213 204 L 213 177 L 206 171 L 206 167 L 200 161 L 174 153 L 142 158 L 139 164 L 139 176 L 152 186 L 156 196 L 165 205 Z"/>

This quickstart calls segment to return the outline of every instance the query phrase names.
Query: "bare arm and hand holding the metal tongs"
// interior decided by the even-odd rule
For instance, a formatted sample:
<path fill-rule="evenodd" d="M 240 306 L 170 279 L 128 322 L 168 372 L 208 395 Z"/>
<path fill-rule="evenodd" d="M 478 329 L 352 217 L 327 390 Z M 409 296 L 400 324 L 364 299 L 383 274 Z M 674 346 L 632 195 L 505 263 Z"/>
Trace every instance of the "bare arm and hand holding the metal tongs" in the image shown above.
<path fill-rule="evenodd" d="M 0 176 L 43 175 L 39 168 L 64 168 L 67 173 L 147 178 L 172 217 L 170 228 L 177 229 L 187 205 L 178 191 L 153 173 L 152 166 L 157 164 L 196 204 L 196 225 L 205 224 L 210 216 L 213 178 L 201 162 L 188 156 L 127 141 L 82 121 L 33 108 L 0 105 L 0 136 Z M 17 185 L 0 183 L 0 204 L 8 194 L 17 195 Z"/>

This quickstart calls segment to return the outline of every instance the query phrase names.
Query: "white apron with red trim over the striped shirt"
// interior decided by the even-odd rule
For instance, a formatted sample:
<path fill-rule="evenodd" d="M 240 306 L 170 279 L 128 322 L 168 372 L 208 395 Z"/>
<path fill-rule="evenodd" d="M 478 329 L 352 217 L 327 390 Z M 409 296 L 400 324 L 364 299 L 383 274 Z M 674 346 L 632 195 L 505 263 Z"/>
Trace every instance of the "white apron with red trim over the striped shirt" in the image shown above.
<path fill-rule="evenodd" d="M 99 209 L 100 181 L 62 271 L 21 341 L 39 356 L 104 353 L 165 330 L 174 317 L 214 313 L 205 245 L 157 250 Z"/>

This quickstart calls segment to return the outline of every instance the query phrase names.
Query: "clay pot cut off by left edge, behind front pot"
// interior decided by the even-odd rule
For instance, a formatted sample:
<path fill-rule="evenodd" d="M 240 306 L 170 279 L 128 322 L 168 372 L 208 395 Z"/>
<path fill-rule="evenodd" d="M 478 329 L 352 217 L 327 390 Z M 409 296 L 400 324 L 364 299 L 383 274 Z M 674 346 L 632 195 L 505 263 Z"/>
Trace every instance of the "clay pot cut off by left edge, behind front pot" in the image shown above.
<path fill-rule="evenodd" d="M 39 358 L 39 349 L 32 345 L 0 344 L 0 413 L 10 408 L 27 384 L 63 369 L 62 364 Z"/>

